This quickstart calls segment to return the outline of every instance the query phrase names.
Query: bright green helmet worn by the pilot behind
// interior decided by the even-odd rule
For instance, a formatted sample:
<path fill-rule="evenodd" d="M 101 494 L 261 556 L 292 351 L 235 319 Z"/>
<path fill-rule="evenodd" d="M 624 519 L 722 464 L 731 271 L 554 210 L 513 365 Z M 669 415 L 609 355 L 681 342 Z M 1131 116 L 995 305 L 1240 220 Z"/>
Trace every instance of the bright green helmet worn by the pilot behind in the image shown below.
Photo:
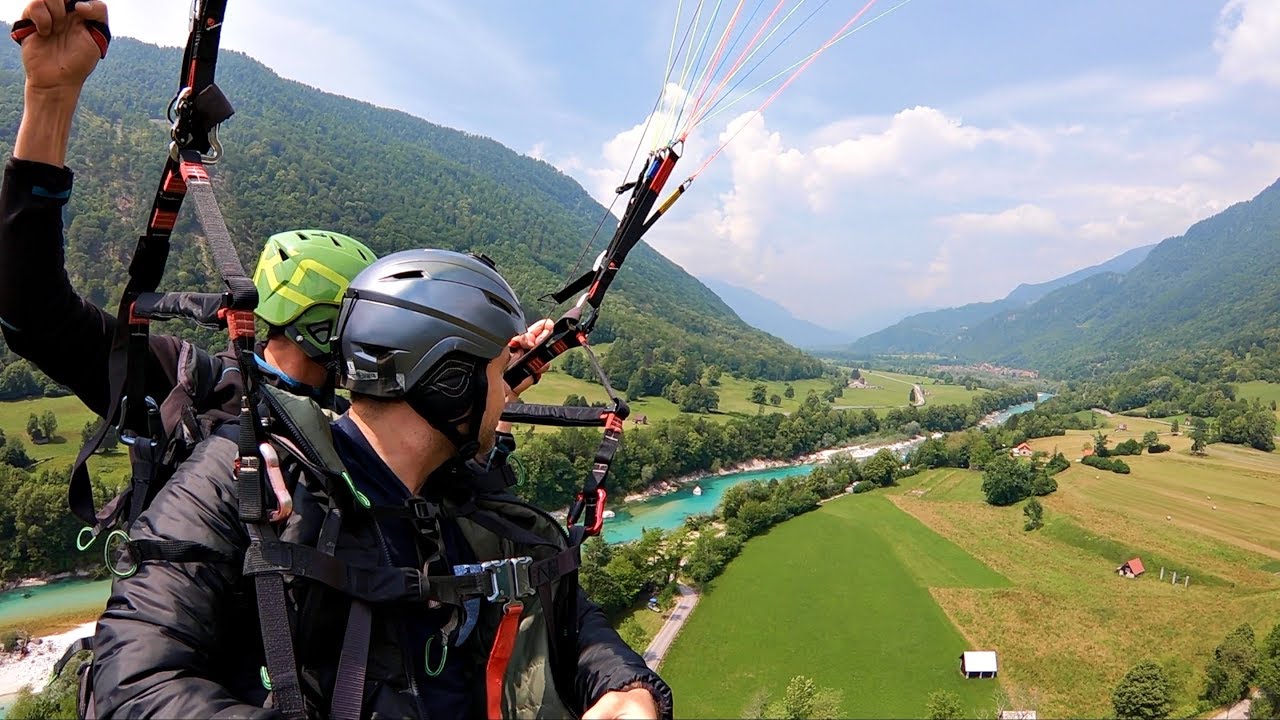
<path fill-rule="evenodd" d="M 347 286 L 376 260 L 362 242 L 330 231 L 273 234 L 253 270 L 257 316 L 282 328 L 312 360 L 333 356 L 330 341 Z"/>

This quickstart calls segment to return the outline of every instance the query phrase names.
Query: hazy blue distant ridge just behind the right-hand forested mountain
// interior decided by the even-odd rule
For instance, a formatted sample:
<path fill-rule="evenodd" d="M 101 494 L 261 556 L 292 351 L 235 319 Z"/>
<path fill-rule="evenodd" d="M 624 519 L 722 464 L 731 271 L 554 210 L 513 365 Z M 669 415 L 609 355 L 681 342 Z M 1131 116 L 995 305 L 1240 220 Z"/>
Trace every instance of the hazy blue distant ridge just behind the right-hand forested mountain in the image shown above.
<path fill-rule="evenodd" d="M 1002 313 L 1015 313 L 1055 290 L 1078 283 L 1102 273 L 1124 274 L 1140 263 L 1155 245 L 1135 247 L 1121 255 L 1083 268 L 1068 275 L 1043 283 L 1019 284 L 1002 297 L 991 302 L 970 302 L 960 307 L 947 307 L 932 313 L 911 315 L 902 322 L 859 338 L 850 346 L 856 355 L 887 355 L 896 352 L 948 352 L 956 340 L 969 328 L 982 324 Z"/>

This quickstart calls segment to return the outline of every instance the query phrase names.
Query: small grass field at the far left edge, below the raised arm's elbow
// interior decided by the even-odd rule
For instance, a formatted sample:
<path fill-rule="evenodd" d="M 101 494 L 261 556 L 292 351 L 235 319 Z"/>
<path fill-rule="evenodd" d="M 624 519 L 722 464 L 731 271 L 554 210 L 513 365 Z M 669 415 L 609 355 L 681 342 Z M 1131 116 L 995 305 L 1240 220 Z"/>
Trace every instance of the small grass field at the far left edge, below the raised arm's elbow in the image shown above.
<path fill-rule="evenodd" d="M 38 416 L 46 410 L 52 410 L 58 416 L 58 432 L 52 442 L 36 445 L 27 434 L 27 418 L 32 413 Z M 0 429 L 6 438 L 22 438 L 27 455 L 38 462 L 36 470 L 46 466 L 69 468 L 79 454 L 84 423 L 96 419 L 97 415 L 74 396 L 0 402 Z M 118 446 L 114 452 L 96 455 L 90 462 L 95 477 L 123 482 L 129 459 L 124 448 Z"/>

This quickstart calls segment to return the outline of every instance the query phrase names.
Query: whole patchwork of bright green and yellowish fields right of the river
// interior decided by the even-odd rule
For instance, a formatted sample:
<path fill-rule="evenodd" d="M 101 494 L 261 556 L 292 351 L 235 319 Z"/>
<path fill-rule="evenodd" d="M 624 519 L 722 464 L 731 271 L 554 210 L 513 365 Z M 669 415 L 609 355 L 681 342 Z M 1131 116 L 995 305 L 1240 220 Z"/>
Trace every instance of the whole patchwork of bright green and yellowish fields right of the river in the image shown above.
<path fill-rule="evenodd" d="M 998 653 L 1005 708 L 1110 716 L 1115 684 L 1151 659 L 1175 682 L 1175 716 L 1202 712 L 1222 635 L 1280 621 L 1280 454 L 1193 457 L 1160 421 L 1107 424 L 1111 443 L 1156 430 L 1172 450 L 1126 457 L 1117 475 L 1074 462 L 1089 433 L 1032 441 L 1073 460 L 1037 532 L 1020 506 L 984 502 L 982 473 L 940 469 L 750 541 L 663 665 L 682 712 L 740 716 L 804 674 L 842 689 L 847 716 L 920 716 L 941 688 L 991 716 L 996 683 L 960 678 L 965 648 Z M 1148 571 L 1117 577 L 1132 557 Z"/>

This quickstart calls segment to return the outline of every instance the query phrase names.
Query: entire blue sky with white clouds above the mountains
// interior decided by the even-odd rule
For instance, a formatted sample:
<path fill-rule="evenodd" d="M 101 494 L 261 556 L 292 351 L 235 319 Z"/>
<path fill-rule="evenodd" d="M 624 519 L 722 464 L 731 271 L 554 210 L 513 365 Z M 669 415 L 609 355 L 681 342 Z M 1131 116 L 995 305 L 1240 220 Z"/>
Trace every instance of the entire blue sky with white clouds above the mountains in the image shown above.
<path fill-rule="evenodd" d="M 754 33 L 796 1 L 745 0 L 739 17 L 759 8 Z M 224 44 L 494 137 L 607 202 L 662 86 L 677 3 L 232 0 Z M 864 3 L 809 0 L 774 41 L 820 10 L 754 77 Z M 687 22 L 696 3 L 678 4 Z M 186 1 L 109 5 L 118 35 L 184 38 Z M 0 0 L 9 17 L 20 6 Z M 721 3 L 712 46 L 737 6 Z M 648 240 L 828 327 L 992 300 L 1179 234 L 1280 177 L 1276 47 L 1276 0 L 911 0 L 762 115 L 746 113 L 767 91 L 699 126 L 684 173 L 740 132 Z"/>

